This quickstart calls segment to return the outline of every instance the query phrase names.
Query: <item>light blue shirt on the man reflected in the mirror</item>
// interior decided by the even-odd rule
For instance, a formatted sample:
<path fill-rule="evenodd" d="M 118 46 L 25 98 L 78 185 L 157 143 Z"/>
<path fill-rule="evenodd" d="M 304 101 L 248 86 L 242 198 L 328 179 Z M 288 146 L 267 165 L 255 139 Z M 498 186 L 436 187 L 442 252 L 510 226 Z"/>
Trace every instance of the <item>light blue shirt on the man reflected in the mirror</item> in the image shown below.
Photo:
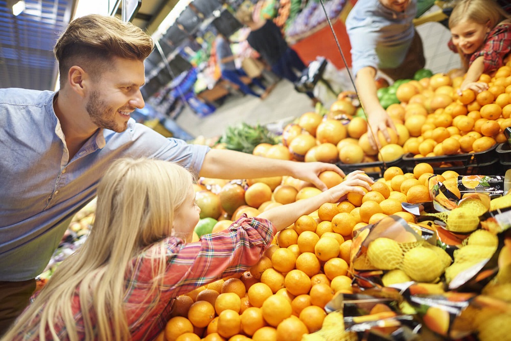
<path fill-rule="evenodd" d="M 402 13 L 384 7 L 379 0 L 358 1 L 346 18 L 353 75 L 366 66 L 377 70 L 399 67 L 413 40 L 416 14 L 417 0 L 410 0 Z"/>

